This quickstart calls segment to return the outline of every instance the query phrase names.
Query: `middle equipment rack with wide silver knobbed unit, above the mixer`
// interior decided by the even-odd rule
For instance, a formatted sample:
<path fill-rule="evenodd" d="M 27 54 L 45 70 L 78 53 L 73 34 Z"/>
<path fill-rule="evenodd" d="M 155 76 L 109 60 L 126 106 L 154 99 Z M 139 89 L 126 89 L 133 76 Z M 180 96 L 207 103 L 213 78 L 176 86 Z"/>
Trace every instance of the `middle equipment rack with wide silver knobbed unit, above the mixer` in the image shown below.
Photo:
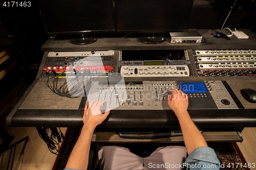
<path fill-rule="evenodd" d="M 125 60 L 124 52 L 119 51 L 119 72 L 123 77 L 189 77 L 190 62 L 187 51 L 167 52 L 167 56 L 162 60 L 143 57 L 144 60 Z M 136 53 L 136 52 L 135 52 Z M 161 53 L 161 51 L 159 51 Z M 173 54 L 173 56 L 172 56 Z M 159 55 L 159 54 L 158 54 Z M 161 54 L 160 54 L 161 55 Z M 146 55 L 147 56 L 147 55 Z M 139 58 L 139 57 L 138 57 Z M 151 60 L 148 60 L 150 58 Z M 161 57 L 159 57 L 161 58 Z M 172 60 L 173 59 L 173 60 Z"/>

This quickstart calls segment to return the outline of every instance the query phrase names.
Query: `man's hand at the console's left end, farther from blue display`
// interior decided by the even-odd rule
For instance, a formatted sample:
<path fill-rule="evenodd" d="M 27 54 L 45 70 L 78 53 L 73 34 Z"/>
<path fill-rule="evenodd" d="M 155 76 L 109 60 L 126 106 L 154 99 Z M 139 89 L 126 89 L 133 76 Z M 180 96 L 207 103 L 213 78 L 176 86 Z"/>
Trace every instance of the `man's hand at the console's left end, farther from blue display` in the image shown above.
<path fill-rule="evenodd" d="M 110 109 L 106 109 L 104 114 L 101 114 L 100 107 L 105 101 L 93 100 L 84 107 L 83 112 L 83 126 L 87 128 L 96 128 L 101 124 L 110 114 Z"/>

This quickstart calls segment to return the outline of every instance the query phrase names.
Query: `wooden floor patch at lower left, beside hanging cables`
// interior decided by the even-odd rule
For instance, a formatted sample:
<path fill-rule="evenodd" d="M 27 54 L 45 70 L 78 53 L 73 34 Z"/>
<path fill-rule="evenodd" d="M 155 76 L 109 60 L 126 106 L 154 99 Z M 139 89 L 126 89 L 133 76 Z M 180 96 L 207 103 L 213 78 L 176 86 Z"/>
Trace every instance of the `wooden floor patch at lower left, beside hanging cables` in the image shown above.
<path fill-rule="evenodd" d="M 65 134 L 67 128 L 61 128 L 63 134 Z M 9 135 L 15 136 L 15 139 L 12 143 L 16 142 L 19 139 L 22 139 L 26 136 L 29 136 L 29 140 L 27 146 L 25 148 L 25 152 L 23 155 L 23 159 L 19 160 L 19 151 L 22 149 L 24 142 L 17 145 L 17 152 L 15 154 L 14 159 L 14 167 L 13 169 L 20 169 L 20 170 L 45 170 L 45 169 L 52 169 L 53 164 L 56 159 L 56 155 L 52 154 L 47 147 L 47 144 L 44 140 L 42 140 L 36 128 L 32 127 L 22 127 L 22 128 L 8 128 L 7 130 Z M 11 143 L 11 144 L 12 144 Z M 6 156 L 9 156 L 7 153 Z M 5 157 L 7 158 L 7 157 Z M 1 166 L 5 166 L 8 159 L 5 159 L 5 162 L 1 162 Z M 0 169 L 4 169 L 1 168 Z"/>

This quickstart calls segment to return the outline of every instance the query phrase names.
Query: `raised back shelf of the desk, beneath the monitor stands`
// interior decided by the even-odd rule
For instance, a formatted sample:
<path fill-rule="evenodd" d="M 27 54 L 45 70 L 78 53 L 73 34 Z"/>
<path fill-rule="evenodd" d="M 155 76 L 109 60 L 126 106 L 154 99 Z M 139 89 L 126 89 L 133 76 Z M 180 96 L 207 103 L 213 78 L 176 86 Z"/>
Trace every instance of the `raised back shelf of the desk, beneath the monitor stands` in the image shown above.
<path fill-rule="evenodd" d="M 92 44 L 75 45 L 70 40 L 55 40 L 50 38 L 42 45 L 44 52 L 68 52 L 68 51 L 98 51 L 98 50 L 188 50 L 188 49 L 251 49 L 256 46 L 256 35 L 249 30 L 243 31 L 249 36 L 248 39 L 237 39 L 230 37 L 230 40 L 215 38 L 211 34 L 216 34 L 212 30 L 198 30 L 206 40 L 205 43 L 169 43 L 167 41 L 160 44 L 143 44 L 137 38 L 98 38 Z M 229 34 L 228 31 L 222 31 Z M 249 42 L 249 43 L 248 43 Z"/>

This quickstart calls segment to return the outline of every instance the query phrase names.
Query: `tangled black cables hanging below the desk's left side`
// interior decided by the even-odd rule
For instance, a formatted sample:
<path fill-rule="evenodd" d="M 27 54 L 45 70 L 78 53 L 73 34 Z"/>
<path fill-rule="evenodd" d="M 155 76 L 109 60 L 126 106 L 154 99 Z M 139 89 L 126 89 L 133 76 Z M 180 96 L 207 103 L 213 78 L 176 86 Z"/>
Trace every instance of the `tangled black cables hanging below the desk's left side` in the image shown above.
<path fill-rule="evenodd" d="M 61 139 L 64 139 L 64 135 L 57 128 L 36 128 L 39 136 L 44 140 L 48 146 L 48 149 L 51 153 L 57 155 L 60 151 Z M 49 136 L 49 130 L 51 131 L 51 135 Z"/>

